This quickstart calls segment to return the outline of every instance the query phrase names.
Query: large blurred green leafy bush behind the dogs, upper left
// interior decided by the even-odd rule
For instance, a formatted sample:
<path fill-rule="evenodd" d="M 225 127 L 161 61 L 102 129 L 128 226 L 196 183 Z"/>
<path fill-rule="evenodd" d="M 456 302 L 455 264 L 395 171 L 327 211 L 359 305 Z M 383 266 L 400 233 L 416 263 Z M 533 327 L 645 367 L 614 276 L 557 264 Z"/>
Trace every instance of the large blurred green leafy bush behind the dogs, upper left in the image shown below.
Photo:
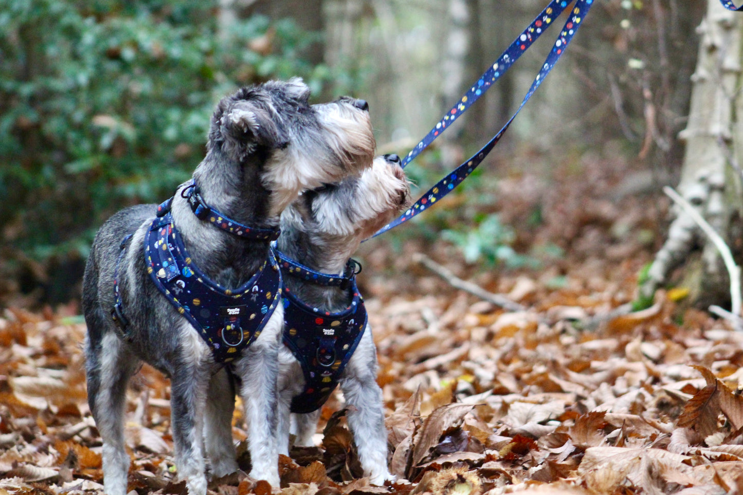
<path fill-rule="evenodd" d="M 302 59 L 316 34 L 259 16 L 221 32 L 217 13 L 215 1 L 0 0 L 6 241 L 39 259 L 84 250 L 112 212 L 187 178 L 221 96 L 333 77 Z"/>

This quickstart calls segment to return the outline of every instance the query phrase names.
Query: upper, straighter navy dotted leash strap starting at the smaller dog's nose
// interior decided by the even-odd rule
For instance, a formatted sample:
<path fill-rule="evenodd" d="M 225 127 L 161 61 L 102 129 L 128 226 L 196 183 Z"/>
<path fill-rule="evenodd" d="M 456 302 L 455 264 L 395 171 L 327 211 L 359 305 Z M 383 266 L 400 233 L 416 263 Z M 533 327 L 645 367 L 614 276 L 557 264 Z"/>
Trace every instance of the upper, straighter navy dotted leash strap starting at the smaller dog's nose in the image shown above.
<path fill-rule="evenodd" d="M 426 135 L 425 138 L 412 149 L 408 155 L 403 159 L 402 167 L 405 168 L 419 153 L 426 149 L 429 144 L 433 142 L 438 136 L 444 133 L 444 131 L 467 109 L 475 103 L 482 94 L 485 93 L 490 86 L 493 85 L 497 80 L 501 78 L 503 74 L 513 65 L 513 62 L 519 59 L 522 54 L 528 50 L 529 47 L 542 35 L 552 24 L 554 19 L 557 19 L 559 15 L 568 7 L 573 0 L 551 0 L 550 4 L 542 10 L 542 13 L 531 22 L 530 25 L 510 44 L 510 46 L 504 51 L 496 62 L 485 71 L 475 84 L 470 87 L 461 100 L 452 106 L 450 111 L 444 114 L 444 117 L 433 126 L 433 129 Z"/>

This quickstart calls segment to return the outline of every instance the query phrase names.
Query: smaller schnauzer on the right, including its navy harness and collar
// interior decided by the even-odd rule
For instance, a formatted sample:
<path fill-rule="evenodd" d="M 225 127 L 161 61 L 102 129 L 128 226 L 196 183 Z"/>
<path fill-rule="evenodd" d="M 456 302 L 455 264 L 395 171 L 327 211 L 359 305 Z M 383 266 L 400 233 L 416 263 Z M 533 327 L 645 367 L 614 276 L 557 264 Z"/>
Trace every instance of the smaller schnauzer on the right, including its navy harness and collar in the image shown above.
<path fill-rule="evenodd" d="M 351 255 L 409 201 L 400 158 L 380 156 L 358 178 L 303 193 L 282 213 L 276 242 L 285 285 L 279 453 L 288 454 L 292 422 L 295 444 L 313 445 L 319 409 L 340 384 L 361 466 L 375 485 L 392 476 L 377 353 Z"/>

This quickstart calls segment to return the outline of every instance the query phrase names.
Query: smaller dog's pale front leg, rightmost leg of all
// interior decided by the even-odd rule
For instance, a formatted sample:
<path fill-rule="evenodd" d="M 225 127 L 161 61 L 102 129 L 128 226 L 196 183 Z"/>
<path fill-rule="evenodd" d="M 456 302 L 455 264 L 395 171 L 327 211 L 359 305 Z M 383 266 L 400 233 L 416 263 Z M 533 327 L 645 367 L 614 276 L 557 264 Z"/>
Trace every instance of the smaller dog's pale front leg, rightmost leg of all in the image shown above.
<path fill-rule="evenodd" d="M 387 432 L 382 389 L 377 385 L 377 353 L 367 328 L 340 381 L 364 474 L 374 485 L 393 479 L 387 468 Z"/>

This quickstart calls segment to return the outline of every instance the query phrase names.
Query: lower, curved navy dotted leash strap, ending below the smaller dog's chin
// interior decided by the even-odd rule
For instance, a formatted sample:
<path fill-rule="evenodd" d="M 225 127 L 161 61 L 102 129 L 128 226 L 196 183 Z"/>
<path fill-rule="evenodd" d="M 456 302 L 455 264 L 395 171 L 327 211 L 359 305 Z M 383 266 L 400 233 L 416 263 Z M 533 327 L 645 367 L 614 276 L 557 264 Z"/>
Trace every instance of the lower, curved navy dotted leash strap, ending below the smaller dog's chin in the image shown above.
<path fill-rule="evenodd" d="M 516 115 L 519 114 L 519 111 L 521 111 L 528 100 L 531 99 L 534 91 L 536 91 L 536 89 L 539 88 L 540 85 L 542 85 L 542 81 L 544 81 L 545 77 L 547 77 L 550 71 L 552 71 L 552 68 L 557 63 L 559 57 L 562 56 L 563 53 L 565 53 L 565 49 L 568 48 L 568 45 L 575 36 L 575 33 L 577 33 L 581 22 L 583 22 L 583 18 L 588 14 L 588 10 L 591 8 L 591 5 L 593 3 L 594 0 L 576 1 L 575 7 L 573 8 L 570 16 L 568 16 L 568 20 L 565 22 L 565 26 L 559 33 L 559 36 L 557 37 L 557 40 L 554 43 L 550 54 L 548 54 L 547 59 L 545 59 L 544 65 L 542 65 L 542 69 L 539 71 L 539 74 L 536 74 L 536 78 L 534 79 L 531 88 L 529 88 L 529 91 L 527 92 L 524 100 L 519 106 L 519 109 L 517 109 L 516 113 L 514 113 L 510 117 L 510 119 L 498 132 L 498 134 L 496 134 L 493 139 L 490 140 L 490 142 L 483 146 L 480 151 L 470 157 L 469 160 L 465 161 L 452 172 L 448 173 L 444 178 L 441 179 L 441 181 L 438 181 L 438 183 L 436 183 L 431 189 L 429 189 L 427 193 L 422 195 L 421 198 L 418 199 L 418 201 L 415 201 L 415 204 L 413 204 L 412 207 L 410 207 L 408 210 L 406 210 L 405 213 L 399 216 L 398 219 L 395 219 L 389 224 L 386 224 L 377 233 L 375 233 L 373 237 L 379 236 L 381 233 L 385 233 L 387 230 L 390 230 L 393 227 L 397 227 L 398 225 L 408 221 L 409 219 L 412 219 L 414 216 L 417 216 L 421 212 L 425 211 L 427 208 L 431 207 L 436 201 L 449 194 L 452 190 L 454 190 L 455 187 L 461 184 L 461 182 L 464 181 L 464 179 L 467 178 L 479 164 L 481 164 L 487 154 L 490 153 L 490 151 L 496 146 L 496 144 L 498 144 L 499 140 L 501 140 L 510 124 L 516 118 Z"/>

